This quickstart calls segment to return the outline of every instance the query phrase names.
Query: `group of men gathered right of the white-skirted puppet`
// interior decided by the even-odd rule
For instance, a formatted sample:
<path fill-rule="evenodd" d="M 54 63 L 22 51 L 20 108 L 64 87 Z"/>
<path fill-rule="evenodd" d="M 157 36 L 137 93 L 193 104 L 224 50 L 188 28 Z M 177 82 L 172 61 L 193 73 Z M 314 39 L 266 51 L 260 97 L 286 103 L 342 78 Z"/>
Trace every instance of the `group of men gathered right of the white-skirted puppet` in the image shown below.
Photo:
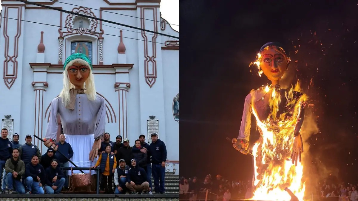
<path fill-rule="evenodd" d="M 129 139 L 124 139 L 122 142 L 120 135 L 116 136 L 116 142 L 110 141 L 109 133 L 105 133 L 103 138 L 100 151 L 104 153 L 105 148 L 110 145 L 111 152 L 117 160 L 117 167 L 112 175 L 115 194 L 148 193 L 152 195 L 151 175 L 154 178 L 155 193 L 165 194 L 164 176 L 167 152 L 165 143 L 158 138 L 157 133 L 151 134 L 150 144 L 145 142 L 145 136 L 141 134 L 133 147 L 129 145 Z M 102 166 L 104 165 L 103 161 Z M 105 182 L 101 182 L 103 188 L 105 185 L 102 183 Z M 109 188 L 111 189 L 111 186 Z"/>

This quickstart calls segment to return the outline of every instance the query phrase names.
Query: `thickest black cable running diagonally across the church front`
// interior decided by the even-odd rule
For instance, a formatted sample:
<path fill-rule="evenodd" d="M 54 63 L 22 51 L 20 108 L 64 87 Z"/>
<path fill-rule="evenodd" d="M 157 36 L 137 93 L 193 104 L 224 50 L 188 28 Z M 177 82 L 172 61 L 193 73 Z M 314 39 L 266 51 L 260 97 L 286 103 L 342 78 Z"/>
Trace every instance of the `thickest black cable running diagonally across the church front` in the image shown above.
<path fill-rule="evenodd" d="M 168 34 L 159 33 L 159 32 L 156 32 L 156 31 L 142 29 L 142 28 L 138 28 L 138 27 L 135 27 L 135 26 L 131 26 L 131 25 L 116 23 L 116 22 L 113 22 L 113 21 L 104 20 L 104 19 L 100 19 L 100 18 L 95 18 L 95 17 L 92 17 L 92 16 L 83 15 L 83 14 L 80 14 L 80 13 L 74 13 L 72 11 L 58 9 L 58 8 L 54 8 L 54 7 L 46 6 L 46 5 L 42 5 L 42 4 L 37 4 L 37 3 L 31 2 L 31 1 L 26 1 L 26 0 L 16 0 L 16 1 L 20 1 L 20 2 L 22 2 L 24 4 L 32 4 L 32 5 L 40 6 L 40 7 L 47 8 L 47 9 L 57 10 L 57 11 L 60 11 L 60 12 L 63 12 L 63 13 L 68 13 L 68 14 L 72 14 L 72 15 L 78 15 L 78 16 L 82 16 L 84 18 L 91 18 L 91 19 L 98 20 L 98 21 L 104 21 L 104 22 L 107 22 L 107 23 L 110 23 L 110 24 L 116 24 L 116 25 L 125 26 L 125 27 L 132 28 L 132 29 L 137 29 L 137 30 L 141 30 L 141 31 L 147 31 L 147 32 L 150 32 L 150 33 L 153 33 L 153 34 L 158 34 L 158 35 L 163 35 L 163 36 L 168 36 L 168 37 L 179 39 L 179 37 L 177 37 L 177 36 L 172 36 L 172 35 L 168 35 Z"/>

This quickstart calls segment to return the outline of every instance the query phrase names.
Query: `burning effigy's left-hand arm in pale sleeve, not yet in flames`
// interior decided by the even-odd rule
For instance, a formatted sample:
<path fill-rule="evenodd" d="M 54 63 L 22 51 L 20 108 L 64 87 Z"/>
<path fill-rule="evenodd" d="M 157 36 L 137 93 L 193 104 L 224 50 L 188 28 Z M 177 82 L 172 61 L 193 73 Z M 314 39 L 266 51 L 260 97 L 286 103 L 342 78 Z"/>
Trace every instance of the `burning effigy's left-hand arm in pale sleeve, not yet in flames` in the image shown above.
<path fill-rule="evenodd" d="M 232 143 L 233 143 L 232 146 L 243 154 L 247 154 L 249 151 L 248 142 L 250 139 L 251 114 L 252 114 L 251 99 L 252 99 L 252 95 L 250 93 L 245 98 L 244 111 L 242 114 L 239 136 L 237 137 L 237 139 L 235 138 L 232 139 Z"/>

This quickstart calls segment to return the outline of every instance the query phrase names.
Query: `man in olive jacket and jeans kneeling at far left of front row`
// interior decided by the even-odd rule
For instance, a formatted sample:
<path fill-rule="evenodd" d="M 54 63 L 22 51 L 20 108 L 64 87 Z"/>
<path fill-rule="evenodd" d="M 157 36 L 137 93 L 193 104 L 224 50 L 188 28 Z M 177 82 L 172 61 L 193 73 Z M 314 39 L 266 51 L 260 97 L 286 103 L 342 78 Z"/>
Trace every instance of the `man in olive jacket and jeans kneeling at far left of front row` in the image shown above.
<path fill-rule="evenodd" d="M 21 177 L 25 175 L 25 163 L 19 158 L 18 148 L 13 149 L 12 155 L 5 163 L 9 193 L 25 193 L 25 187 L 20 181 Z"/>

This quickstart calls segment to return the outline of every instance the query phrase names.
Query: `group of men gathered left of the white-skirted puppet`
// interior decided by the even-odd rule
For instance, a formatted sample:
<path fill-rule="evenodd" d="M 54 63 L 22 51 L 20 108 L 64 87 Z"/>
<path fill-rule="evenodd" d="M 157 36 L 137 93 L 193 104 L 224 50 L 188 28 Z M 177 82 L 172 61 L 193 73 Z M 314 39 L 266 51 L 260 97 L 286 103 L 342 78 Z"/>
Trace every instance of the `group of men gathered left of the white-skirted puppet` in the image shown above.
<path fill-rule="evenodd" d="M 39 164 L 41 152 L 32 144 L 32 137 L 25 137 L 26 143 L 19 146 L 19 134 L 15 133 L 13 142 L 10 142 L 8 130 L 1 129 L 0 138 L 0 170 L 5 169 L 1 193 L 34 193 L 47 194 L 60 193 L 65 184 L 65 176 L 58 167 L 57 158 L 47 161 L 45 169 Z M 49 149 L 42 158 L 45 159 L 53 150 Z M 6 185 L 8 190 L 5 190 Z"/>

